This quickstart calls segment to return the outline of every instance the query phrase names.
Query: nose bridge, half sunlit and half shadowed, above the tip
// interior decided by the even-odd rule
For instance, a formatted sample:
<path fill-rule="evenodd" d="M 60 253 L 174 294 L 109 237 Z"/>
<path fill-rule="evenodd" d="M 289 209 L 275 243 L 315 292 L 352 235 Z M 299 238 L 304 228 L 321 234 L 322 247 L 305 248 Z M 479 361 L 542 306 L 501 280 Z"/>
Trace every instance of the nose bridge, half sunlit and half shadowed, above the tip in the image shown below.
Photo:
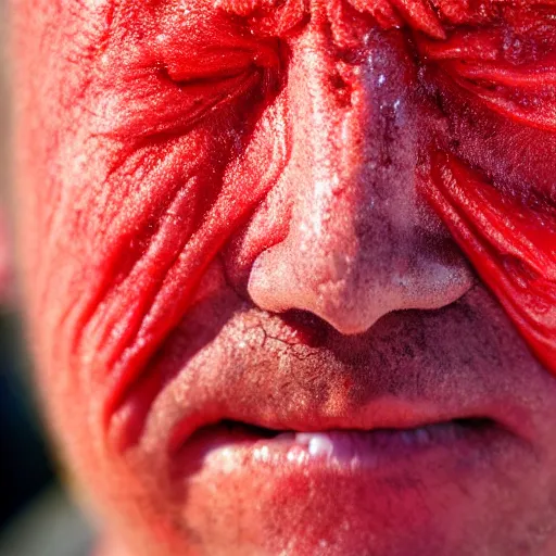
<path fill-rule="evenodd" d="M 295 200 L 290 241 L 321 251 L 312 276 L 328 262 L 349 277 L 361 241 L 415 220 L 416 148 L 403 132 L 403 80 L 367 41 L 363 62 L 349 64 L 317 29 L 294 46 L 289 73 L 292 153 L 285 179 Z M 377 45 L 377 52 L 379 48 Z M 377 56 L 380 58 L 380 56 Z M 392 62 L 391 59 L 388 62 Z M 307 265 L 312 264 L 309 261 Z M 340 277 L 338 277 L 340 279 Z M 330 276 L 329 276 L 330 279 Z"/>

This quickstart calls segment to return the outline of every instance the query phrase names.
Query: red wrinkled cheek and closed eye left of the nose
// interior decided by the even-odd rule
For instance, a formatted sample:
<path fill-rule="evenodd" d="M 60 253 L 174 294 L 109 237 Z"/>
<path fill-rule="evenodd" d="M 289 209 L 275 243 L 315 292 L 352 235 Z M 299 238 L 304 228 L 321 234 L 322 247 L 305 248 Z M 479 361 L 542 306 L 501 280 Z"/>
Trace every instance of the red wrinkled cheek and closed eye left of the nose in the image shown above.
<path fill-rule="evenodd" d="M 219 21 L 208 22 L 222 31 L 216 54 L 202 28 L 187 35 L 195 55 L 184 56 L 184 29 L 166 37 L 156 27 L 164 40 L 147 40 L 131 12 L 114 21 L 124 34 L 114 37 L 102 26 L 106 14 L 84 14 L 101 29 L 89 42 L 80 17 L 61 11 L 65 20 L 51 15 L 48 25 L 18 22 L 20 36 L 26 23 L 30 36 L 41 25 L 76 31 L 52 39 L 56 56 L 31 52 L 31 39 L 22 49 L 43 66 L 26 67 L 16 85 L 27 109 L 17 131 L 27 305 L 46 381 L 62 369 L 67 391 L 92 391 L 106 405 L 182 318 L 222 245 L 275 180 L 279 111 L 265 109 L 277 92 L 276 56 L 268 41 Z M 207 14 L 199 21 L 208 25 Z M 38 92 L 42 81 L 49 94 Z"/>

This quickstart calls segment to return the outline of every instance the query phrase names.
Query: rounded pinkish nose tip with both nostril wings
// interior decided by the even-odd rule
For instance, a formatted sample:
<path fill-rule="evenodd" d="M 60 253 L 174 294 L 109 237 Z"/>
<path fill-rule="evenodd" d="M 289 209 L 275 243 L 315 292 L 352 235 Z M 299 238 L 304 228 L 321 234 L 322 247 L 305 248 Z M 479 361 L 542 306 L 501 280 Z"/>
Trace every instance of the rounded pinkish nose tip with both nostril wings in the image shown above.
<path fill-rule="evenodd" d="M 265 311 L 307 311 L 342 334 L 359 334 L 389 313 L 441 308 L 472 287 L 463 255 L 448 248 L 442 257 L 422 249 L 414 245 L 420 256 L 414 252 L 413 262 L 403 254 L 370 262 L 361 254 L 325 254 L 318 247 L 303 253 L 299 244 L 286 241 L 258 256 L 248 291 Z M 372 244 L 366 248 L 367 254 L 371 251 Z"/>

